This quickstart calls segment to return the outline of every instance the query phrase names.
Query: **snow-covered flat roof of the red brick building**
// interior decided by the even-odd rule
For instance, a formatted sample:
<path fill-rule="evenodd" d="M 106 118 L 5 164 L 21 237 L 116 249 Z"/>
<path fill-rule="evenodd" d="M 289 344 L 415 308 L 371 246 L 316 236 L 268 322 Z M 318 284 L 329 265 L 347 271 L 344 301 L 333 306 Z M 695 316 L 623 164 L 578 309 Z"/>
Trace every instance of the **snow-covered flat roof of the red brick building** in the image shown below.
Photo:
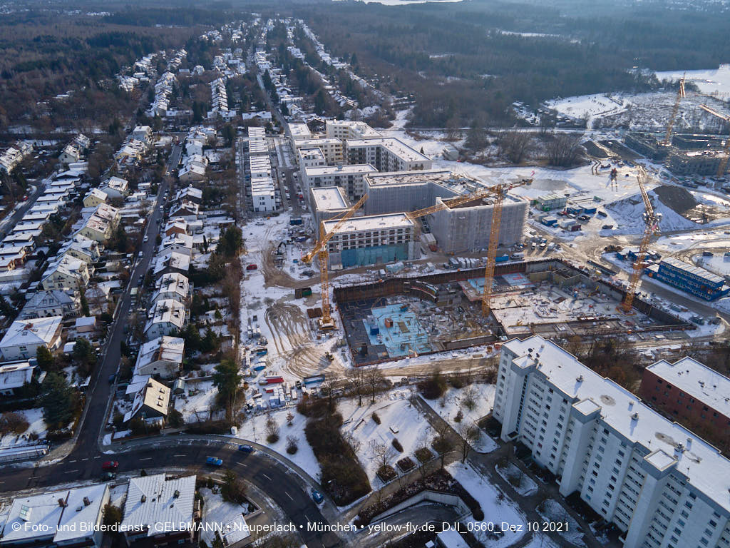
<path fill-rule="evenodd" d="M 730 378 L 691 357 L 670 363 L 661 359 L 647 368 L 696 400 L 730 416 Z"/>

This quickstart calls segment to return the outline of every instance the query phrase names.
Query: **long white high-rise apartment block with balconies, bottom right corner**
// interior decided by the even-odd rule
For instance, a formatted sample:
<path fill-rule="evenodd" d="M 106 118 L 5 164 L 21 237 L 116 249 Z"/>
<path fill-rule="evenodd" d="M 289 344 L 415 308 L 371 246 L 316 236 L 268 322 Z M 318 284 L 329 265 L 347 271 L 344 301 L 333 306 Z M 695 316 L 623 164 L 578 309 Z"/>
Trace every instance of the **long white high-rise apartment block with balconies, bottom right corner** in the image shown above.
<path fill-rule="evenodd" d="M 730 461 L 556 344 L 504 343 L 493 416 L 626 548 L 730 546 Z"/>

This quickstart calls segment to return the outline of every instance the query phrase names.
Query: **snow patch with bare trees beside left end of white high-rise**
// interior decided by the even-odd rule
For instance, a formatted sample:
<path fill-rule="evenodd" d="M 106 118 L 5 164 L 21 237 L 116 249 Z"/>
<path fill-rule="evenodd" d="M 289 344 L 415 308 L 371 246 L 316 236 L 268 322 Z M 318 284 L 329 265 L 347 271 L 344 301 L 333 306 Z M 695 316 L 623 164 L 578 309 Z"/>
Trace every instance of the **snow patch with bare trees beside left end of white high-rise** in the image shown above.
<path fill-rule="evenodd" d="M 449 388 L 440 400 L 423 401 L 429 404 L 431 409 L 436 411 L 442 419 L 445 419 L 458 432 L 458 422 L 456 415 L 458 411 L 464 414 L 461 422 L 464 425 L 473 425 L 483 416 L 491 413 L 494 405 L 493 384 L 469 384 L 464 388 Z M 474 407 L 469 410 L 466 407 L 465 400 L 474 400 Z M 480 430 L 480 438 L 472 444 L 475 451 L 480 453 L 488 453 L 497 448 L 497 444 L 486 433 Z"/>

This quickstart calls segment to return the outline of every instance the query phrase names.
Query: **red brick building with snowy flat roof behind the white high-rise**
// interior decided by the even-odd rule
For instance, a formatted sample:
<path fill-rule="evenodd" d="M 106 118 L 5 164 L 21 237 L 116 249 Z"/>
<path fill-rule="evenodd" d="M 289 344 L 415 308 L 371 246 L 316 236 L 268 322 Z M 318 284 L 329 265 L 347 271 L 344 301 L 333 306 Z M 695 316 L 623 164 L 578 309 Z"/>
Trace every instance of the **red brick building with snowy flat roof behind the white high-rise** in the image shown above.
<path fill-rule="evenodd" d="M 678 422 L 730 427 L 730 378 L 691 357 L 650 365 L 644 370 L 639 393 L 646 403 Z"/>

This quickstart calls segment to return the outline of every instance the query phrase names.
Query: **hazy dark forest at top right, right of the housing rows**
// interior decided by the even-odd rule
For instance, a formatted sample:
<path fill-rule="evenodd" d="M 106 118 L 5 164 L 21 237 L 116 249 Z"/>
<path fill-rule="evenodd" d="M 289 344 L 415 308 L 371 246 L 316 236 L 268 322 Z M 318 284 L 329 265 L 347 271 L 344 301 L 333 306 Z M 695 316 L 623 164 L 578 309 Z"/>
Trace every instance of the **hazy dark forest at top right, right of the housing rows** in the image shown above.
<path fill-rule="evenodd" d="M 562 11 L 545 4 L 333 2 L 297 12 L 332 53 L 356 53 L 361 75 L 394 94 L 413 94 L 418 127 L 510 125 L 514 101 L 537 106 L 556 96 L 648 91 L 661 83 L 645 69 L 727 62 L 727 14 L 712 4 L 695 11 L 638 2 L 574 1 Z"/>

